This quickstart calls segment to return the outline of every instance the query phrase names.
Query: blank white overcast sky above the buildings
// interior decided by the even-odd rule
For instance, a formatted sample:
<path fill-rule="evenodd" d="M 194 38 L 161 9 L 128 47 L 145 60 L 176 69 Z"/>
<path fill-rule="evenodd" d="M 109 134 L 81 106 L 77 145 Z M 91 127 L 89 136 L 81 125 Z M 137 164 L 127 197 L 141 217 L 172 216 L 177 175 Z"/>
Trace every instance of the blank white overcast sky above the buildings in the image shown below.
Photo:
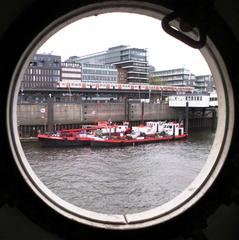
<path fill-rule="evenodd" d="M 148 49 L 148 61 L 156 70 L 186 67 L 196 75 L 210 74 L 199 50 L 174 39 L 159 20 L 131 13 L 107 13 L 76 21 L 53 35 L 37 53 L 83 56 L 109 47 L 129 45 Z"/>

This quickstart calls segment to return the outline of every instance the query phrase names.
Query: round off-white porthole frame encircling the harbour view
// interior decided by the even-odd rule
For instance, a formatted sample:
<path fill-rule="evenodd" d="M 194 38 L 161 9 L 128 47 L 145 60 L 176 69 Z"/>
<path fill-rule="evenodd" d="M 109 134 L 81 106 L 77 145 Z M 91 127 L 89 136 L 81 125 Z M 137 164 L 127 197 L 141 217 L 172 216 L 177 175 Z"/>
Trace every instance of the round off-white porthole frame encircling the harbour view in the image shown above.
<path fill-rule="evenodd" d="M 115 7 L 112 7 L 112 5 L 115 4 Z M 122 4 L 121 6 L 119 6 L 120 4 Z M 94 6 L 93 6 L 94 5 Z M 90 7 L 99 7 L 100 11 L 99 12 L 94 12 L 93 14 L 100 14 L 102 13 L 102 11 L 105 12 L 105 7 L 108 6 L 108 10 L 112 11 L 113 9 L 117 9 L 117 11 L 120 9 L 120 11 L 128 11 L 128 9 L 131 9 L 132 11 L 143 11 L 143 13 L 145 14 L 145 12 L 147 12 L 148 14 L 150 13 L 150 11 L 155 12 L 155 10 L 159 10 L 158 5 L 153 5 L 153 4 L 149 4 L 145 2 L 144 3 L 139 3 L 137 1 L 132 2 L 132 1 L 106 1 L 105 2 L 105 6 L 104 4 L 100 3 L 100 4 L 93 4 Z M 137 6 L 137 8 L 136 8 Z M 140 8 L 139 8 L 140 6 Z M 84 14 L 88 14 L 88 10 L 87 9 L 89 7 L 85 6 L 83 8 L 80 8 L 80 10 L 82 10 L 84 12 Z M 162 11 L 162 8 L 160 8 L 160 10 Z M 164 9 L 165 10 L 165 9 Z M 73 12 L 69 13 L 67 16 L 74 16 L 76 13 L 77 15 L 79 14 L 79 9 L 78 10 L 74 10 Z M 97 10 L 98 11 L 98 10 Z M 167 11 L 166 11 L 167 12 Z M 139 13 L 139 12 L 137 12 Z M 152 14 L 153 15 L 153 14 Z M 150 15 L 150 16 L 152 16 Z M 156 16 L 154 16 L 156 17 Z M 23 74 L 23 69 L 24 69 L 24 62 L 27 61 L 28 57 L 29 57 L 29 53 L 30 52 L 34 52 L 33 49 L 35 49 L 38 44 L 40 44 L 41 41 L 43 41 L 43 36 L 44 38 L 45 36 L 45 32 L 49 31 L 49 29 L 54 31 L 57 31 L 58 29 L 55 28 L 56 25 L 59 24 L 59 22 L 62 23 L 61 27 L 64 24 L 68 24 L 69 21 L 63 21 L 65 17 L 63 18 L 59 18 L 56 22 L 50 24 L 47 28 L 44 29 L 44 31 L 42 31 L 34 40 L 33 42 L 30 43 L 30 45 L 28 46 L 28 48 L 25 50 L 25 52 L 22 54 L 21 59 L 19 60 L 19 63 L 15 69 L 15 72 L 13 74 L 13 78 L 12 79 L 18 79 L 19 76 L 21 76 Z M 59 27 L 59 25 L 58 25 Z M 53 32 L 51 32 L 53 33 Z M 42 39 L 41 41 L 39 41 L 39 39 Z M 38 197 L 44 201 L 44 203 L 46 203 L 48 206 L 50 206 L 52 209 L 54 209 L 56 212 L 60 213 L 61 215 L 63 215 L 64 217 L 68 218 L 68 219 L 73 219 L 76 222 L 79 223 L 83 223 L 83 224 L 87 224 L 90 226 L 94 226 L 94 227 L 100 227 L 100 228 L 109 228 L 109 229 L 138 229 L 138 228 L 145 228 L 145 227 L 149 227 L 149 226 L 153 226 L 153 225 L 158 225 L 160 223 L 166 222 L 166 221 L 170 221 L 171 219 L 175 218 L 176 216 L 179 216 L 180 214 L 184 213 L 186 210 L 188 210 L 189 208 L 191 208 L 192 206 L 194 206 L 194 204 L 196 204 L 203 196 L 204 194 L 208 191 L 208 189 L 212 186 L 212 184 L 214 183 L 214 180 L 216 179 L 217 175 L 219 174 L 221 168 L 223 167 L 223 164 L 226 160 L 227 157 L 227 153 L 229 152 L 229 148 L 230 148 L 230 144 L 231 144 L 231 139 L 232 139 L 232 135 L 233 135 L 233 129 L 234 129 L 234 97 L 233 97 L 233 90 L 230 86 L 230 78 L 228 76 L 227 73 L 227 68 L 222 60 L 222 57 L 220 56 L 219 51 L 217 50 L 216 46 L 213 44 L 212 41 L 210 41 L 208 39 L 207 41 L 207 47 L 204 48 L 202 50 L 204 55 L 208 54 L 208 57 L 206 57 L 209 65 L 211 66 L 210 68 L 216 68 L 215 71 L 213 71 L 213 75 L 214 78 L 217 79 L 217 77 L 222 77 L 223 76 L 223 80 L 221 79 L 221 82 L 217 83 L 217 90 L 218 92 L 223 90 L 222 95 L 219 96 L 219 105 L 220 105 L 220 111 L 219 111 L 219 121 L 218 121 L 218 125 L 221 126 L 220 124 L 224 125 L 224 133 L 222 135 L 220 135 L 221 139 L 219 142 L 214 141 L 214 145 L 217 144 L 221 144 L 223 141 L 224 143 L 224 149 L 221 149 L 220 154 L 222 155 L 221 160 L 218 159 L 218 164 L 214 165 L 211 167 L 210 169 L 210 177 L 202 177 L 204 178 L 204 180 L 202 181 L 202 187 L 200 190 L 195 189 L 193 184 L 190 185 L 190 189 L 188 189 L 189 192 L 194 191 L 194 197 L 188 197 L 188 199 L 190 199 L 190 201 L 187 203 L 187 205 L 181 205 L 180 208 L 178 208 L 178 211 L 174 211 L 171 212 L 170 214 L 167 214 L 168 217 L 165 216 L 161 216 L 159 218 L 159 213 L 157 213 L 155 216 L 155 214 L 152 214 L 152 211 L 155 211 L 155 209 L 152 209 L 150 211 L 147 211 L 146 216 L 142 216 L 142 214 L 145 215 L 145 212 L 143 212 L 142 214 L 136 214 L 136 215 L 132 215 L 131 216 L 121 216 L 120 219 L 118 218 L 118 216 L 114 216 L 114 219 L 107 219 L 105 218 L 106 216 L 102 216 L 99 215 L 94 219 L 94 213 L 93 215 L 91 215 L 90 212 L 85 212 L 86 215 L 80 219 L 78 219 L 78 217 L 75 217 L 75 211 L 77 212 L 78 210 L 75 209 L 74 206 L 70 206 L 72 211 L 68 211 L 65 212 L 64 207 L 62 208 L 62 206 L 59 207 L 59 202 L 60 205 L 63 204 L 67 204 L 65 202 L 62 202 L 61 199 L 57 198 L 57 196 L 53 196 L 52 193 L 49 191 L 49 189 L 47 189 L 44 184 L 40 182 L 38 182 L 38 178 L 36 176 L 34 176 L 34 173 L 32 173 L 32 170 L 30 168 L 30 166 L 28 165 L 27 162 L 22 162 L 21 160 L 19 161 L 19 158 L 24 158 L 24 154 L 20 151 L 19 152 L 19 144 L 20 142 L 16 140 L 16 136 L 17 136 L 17 132 L 16 132 L 16 126 L 14 126 L 14 123 L 16 125 L 16 108 L 13 106 L 16 103 L 16 94 L 15 96 L 9 95 L 8 96 L 8 106 L 7 106 L 7 130 L 8 130 L 8 138 L 10 141 L 10 146 L 11 146 L 11 150 L 12 153 L 14 155 L 14 159 L 15 162 L 17 164 L 18 170 L 21 172 L 21 175 L 23 176 L 24 180 L 27 182 L 27 184 L 30 186 L 30 188 L 34 191 L 34 193 L 36 195 L 38 195 Z M 210 56 L 210 58 L 209 58 Z M 218 67 L 218 66 L 220 67 Z M 213 66 L 213 67 L 212 67 Z M 18 86 L 14 85 L 15 80 L 12 80 L 11 86 L 10 86 L 10 91 L 12 92 L 12 90 L 14 90 L 14 93 L 16 93 L 16 89 L 18 88 Z M 19 84 L 18 84 L 19 85 Z M 12 93 L 11 93 L 12 94 Z M 225 94 L 225 96 L 223 96 Z M 13 94 L 14 95 L 14 94 Z M 224 101 L 224 102 L 222 102 Z M 15 104 L 16 106 L 16 104 Z M 225 114 L 225 119 L 222 119 L 224 116 L 222 116 L 224 113 Z M 221 118 L 220 118 L 221 117 Z M 223 122 L 223 123 L 222 123 Z M 217 133 L 218 134 L 218 133 Z M 218 137 L 218 135 L 217 135 Z M 18 149 L 18 151 L 16 151 Z M 212 170 L 212 171 L 211 171 Z M 207 174 L 208 176 L 208 174 Z M 37 179 L 36 179 L 37 178 Z M 194 188 L 194 189 L 193 189 Z M 49 196 L 51 196 L 49 200 Z M 178 199 L 182 198 L 182 194 L 180 194 L 178 197 L 176 197 Z M 182 201 L 183 202 L 183 201 Z M 160 208 L 162 208 L 162 206 L 160 206 Z M 174 208 L 175 209 L 175 208 Z M 162 211 L 162 210 L 161 210 Z M 164 210 L 165 212 L 167 210 Z M 73 215 L 72 215 L 73 214 Z M 84 214 L 82 214 L 84 215 Z M 162 214 L 163 215 L 163 214 Z M 170 215 L 170 217 L 169 217 Z M 103 217 L 101 219 L 101 217 Z M 93 218 L 93 221 L 92 219 Z M 148 220 L 146 220 L 146 218 Z"/>

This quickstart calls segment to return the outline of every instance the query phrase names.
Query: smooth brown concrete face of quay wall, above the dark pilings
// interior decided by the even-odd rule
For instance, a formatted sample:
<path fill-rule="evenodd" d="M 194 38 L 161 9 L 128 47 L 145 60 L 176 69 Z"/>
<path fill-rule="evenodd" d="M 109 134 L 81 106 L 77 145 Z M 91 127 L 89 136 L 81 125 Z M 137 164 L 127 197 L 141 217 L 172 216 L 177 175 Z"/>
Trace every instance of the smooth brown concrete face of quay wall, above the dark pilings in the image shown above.
<path fill-rule="evenodd" d="M 156 103 L 48 103 L 17 106 L 18 126 L 149 121 L 183 118 L 179 109 Z"/>

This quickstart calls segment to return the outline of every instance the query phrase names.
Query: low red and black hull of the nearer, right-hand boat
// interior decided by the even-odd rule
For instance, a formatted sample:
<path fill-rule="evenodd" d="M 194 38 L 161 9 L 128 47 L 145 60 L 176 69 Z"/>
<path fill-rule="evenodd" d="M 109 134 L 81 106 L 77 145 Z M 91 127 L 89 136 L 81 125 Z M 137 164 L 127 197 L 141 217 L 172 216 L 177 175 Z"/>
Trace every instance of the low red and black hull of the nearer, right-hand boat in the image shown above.
<path fill-rule="evenodd" d="M 135 146 L 140 144 L 157 143 L 163 141 L 173 141 L 187 138 L 188 134 L 178 136 L 163 136 L 163 137 L 150 137 L 144 139 L 102 139 L 91 140 L 91 147 L 124 147 Z"/>

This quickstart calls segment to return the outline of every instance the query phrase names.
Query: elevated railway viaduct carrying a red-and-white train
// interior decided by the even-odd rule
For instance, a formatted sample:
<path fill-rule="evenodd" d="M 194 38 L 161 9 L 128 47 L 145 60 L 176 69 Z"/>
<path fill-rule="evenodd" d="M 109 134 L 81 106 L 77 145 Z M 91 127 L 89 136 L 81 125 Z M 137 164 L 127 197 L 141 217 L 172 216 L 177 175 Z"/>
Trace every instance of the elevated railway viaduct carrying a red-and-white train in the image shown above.
<path fill-rule="evenodd" d="M 43 103 L 49 95 L 55 102 L 123 101 L 123 99 L 159 102 L 170 95 L 192 93 L 192 87 L 147 84 L 116 84 L 59 81 L 54 88 L 27 88 L 19 91 L 18 102 Z"/>

